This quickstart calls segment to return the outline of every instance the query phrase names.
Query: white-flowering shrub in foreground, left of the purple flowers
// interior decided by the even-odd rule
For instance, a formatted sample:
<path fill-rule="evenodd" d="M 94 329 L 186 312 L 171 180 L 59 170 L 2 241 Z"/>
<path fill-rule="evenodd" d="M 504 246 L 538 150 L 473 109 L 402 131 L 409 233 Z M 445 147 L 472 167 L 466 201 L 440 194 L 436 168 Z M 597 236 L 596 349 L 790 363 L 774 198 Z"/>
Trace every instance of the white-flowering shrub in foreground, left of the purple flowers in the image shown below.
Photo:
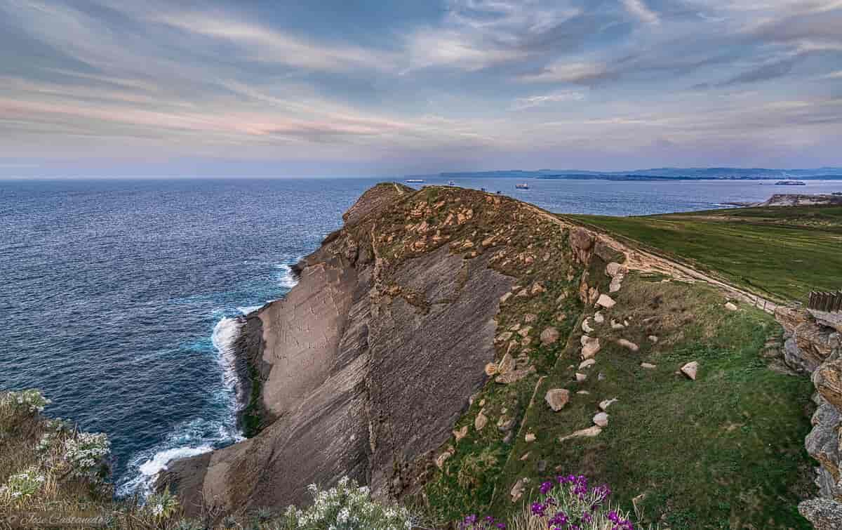
<path fill-rule="evenodd" d="M 310 484 L 312 506 L 287 508 L 280 530 L 410 530 L 413 517 L 401 506 L 383 506 L 371 499 L 369 489 L 343 477 L 336 487 L 320 490 Z"/>

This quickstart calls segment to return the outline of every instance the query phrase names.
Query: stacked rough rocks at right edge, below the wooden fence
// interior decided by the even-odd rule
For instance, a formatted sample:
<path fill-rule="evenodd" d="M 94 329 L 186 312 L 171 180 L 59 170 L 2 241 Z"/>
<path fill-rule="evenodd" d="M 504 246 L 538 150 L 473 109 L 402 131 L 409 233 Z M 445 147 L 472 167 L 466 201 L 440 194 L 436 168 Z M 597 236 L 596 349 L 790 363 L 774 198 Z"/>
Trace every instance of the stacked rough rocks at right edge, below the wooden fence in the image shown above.
<path fill-rule="evenodd" d="M 818 408 L 813 430 L 807 435 L 807 452 L 815 458 L 819 498 L 798 506 L 819 530 L 842 528 L 842 337 L 809 313 L 781 310 L 775 313 L 786 330 L 784 358 L 793 369 L 812 372 Z"/>

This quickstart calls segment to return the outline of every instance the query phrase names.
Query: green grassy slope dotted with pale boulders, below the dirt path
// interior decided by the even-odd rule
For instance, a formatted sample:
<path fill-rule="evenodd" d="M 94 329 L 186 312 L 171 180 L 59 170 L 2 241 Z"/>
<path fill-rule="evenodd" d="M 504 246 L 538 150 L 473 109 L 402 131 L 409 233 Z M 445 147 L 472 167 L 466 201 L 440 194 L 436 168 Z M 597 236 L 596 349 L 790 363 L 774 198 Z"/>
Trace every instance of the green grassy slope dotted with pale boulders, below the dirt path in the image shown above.
<path fill-rule="evenodd" d="M 505 479 L 530 476 L 540 484 L 556 472 L 586 474 L 610 484 L 629 509 L 633 497 L 646 494 L 640 506 L 647 521 L 674 529 L 808 528 L 796 506 L 812 488 L 803 448 L 812 388 L 806 377 L 771 371 L 759 355 L 780 327 L 752 308 L 723 312 L 721 295 L 701 285 L 632 277 L 616 300 L 603 310 L 607 321 L 631 325 L 617 331 L 591 319 L 591 335 L 603 346 L 596 365 L 583 371 L 584 383 L 573 381 L 571 368 L 580 361 L 582 334 L 571 337 L 539 391 L 542 398 L 549 388 L 568 388 L 571 403 L 557 413 L 542 402 L 530 411 L 527 429 L 536 442 L 518 440 L 519 458 L 510 461 Z M 646 319 L 653 320 L 642 324 Z M 657 344 L 649 334 L 659 337 Z M 625 350 L 616 345 L 619 338 L 641 350 Z M 643 361 L 657 368 L 642 368 Z M 695 382 L 674 373 L 688 361 L 701 364 Z M 600 436 L 558 442 L 591 426 L 597 404 L 613 398 L 618 402 Z M 537 473 L 540 460 L 549 463 L 545 474 Z M 509 506 L 504 495 L 494 508 Z"/>

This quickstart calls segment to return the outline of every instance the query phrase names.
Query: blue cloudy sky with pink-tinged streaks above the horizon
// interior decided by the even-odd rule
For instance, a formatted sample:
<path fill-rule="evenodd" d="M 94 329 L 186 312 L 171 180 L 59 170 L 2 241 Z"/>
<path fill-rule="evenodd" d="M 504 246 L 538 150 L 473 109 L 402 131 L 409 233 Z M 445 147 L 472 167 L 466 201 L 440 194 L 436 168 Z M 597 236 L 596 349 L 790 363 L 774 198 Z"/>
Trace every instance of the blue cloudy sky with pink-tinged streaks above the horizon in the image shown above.
<path fill-rule="evenodd" d="M 0 177 L 842 165 L 842 0 L 0 0 Z"/>

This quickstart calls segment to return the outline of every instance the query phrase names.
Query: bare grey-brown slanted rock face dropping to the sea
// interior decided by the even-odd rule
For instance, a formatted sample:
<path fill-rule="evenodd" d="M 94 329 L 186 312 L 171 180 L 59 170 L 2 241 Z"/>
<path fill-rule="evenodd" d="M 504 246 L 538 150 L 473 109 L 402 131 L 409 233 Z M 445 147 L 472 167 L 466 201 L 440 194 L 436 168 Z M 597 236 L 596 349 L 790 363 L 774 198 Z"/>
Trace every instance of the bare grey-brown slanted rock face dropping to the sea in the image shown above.
<path fill-rule="evenodd" d="M 363 195 L 297 266 L 287 297 L 246 319 L 238 345 L 263 428 L 170 466 L 159 484 L 189 515 L 306 503 L 307 484 L 343 475 L 397 495 L 412 482 L 402 475 L 450 437 L 488 377 L 494 316 L 514 278 L 466 244 L 480 212 L 461 200 L 413 206 L 409 227 L 389 215 L 413 193 L 390 184 Z M 436 215 L 441 228 L 425 228 Z"/>

